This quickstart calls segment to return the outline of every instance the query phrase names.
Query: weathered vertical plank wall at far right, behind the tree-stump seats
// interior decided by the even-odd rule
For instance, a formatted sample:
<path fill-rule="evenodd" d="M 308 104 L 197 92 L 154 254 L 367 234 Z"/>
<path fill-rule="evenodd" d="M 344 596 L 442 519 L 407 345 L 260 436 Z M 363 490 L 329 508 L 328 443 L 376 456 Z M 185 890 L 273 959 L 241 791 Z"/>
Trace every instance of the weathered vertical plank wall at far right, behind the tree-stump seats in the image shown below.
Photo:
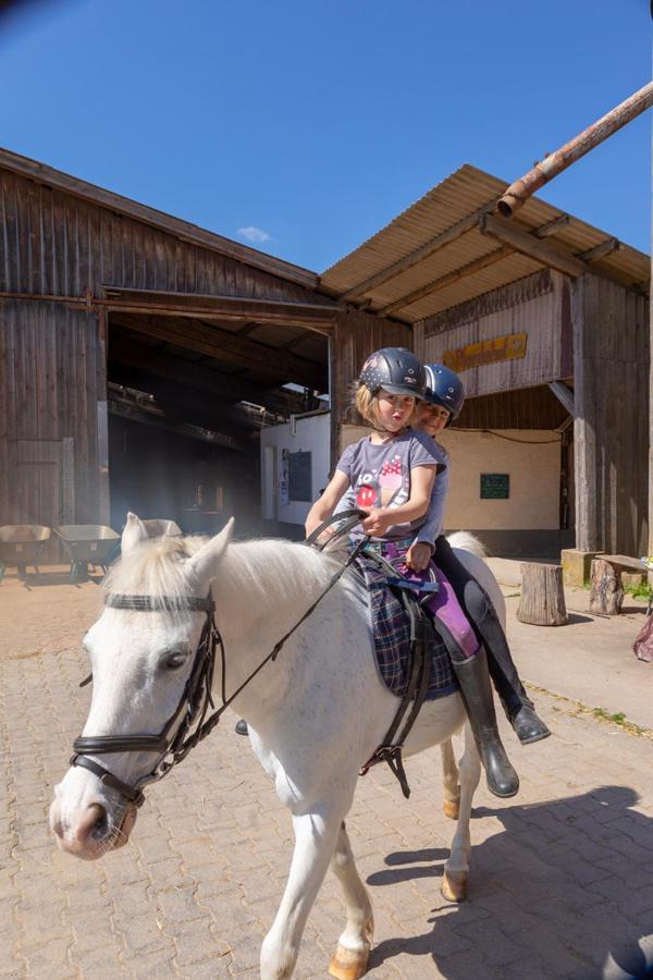
<path fill-rule="evenodd" d="M 649 307 L 597 275 L 571 292 L 577 548 L 648 547 Z"/>

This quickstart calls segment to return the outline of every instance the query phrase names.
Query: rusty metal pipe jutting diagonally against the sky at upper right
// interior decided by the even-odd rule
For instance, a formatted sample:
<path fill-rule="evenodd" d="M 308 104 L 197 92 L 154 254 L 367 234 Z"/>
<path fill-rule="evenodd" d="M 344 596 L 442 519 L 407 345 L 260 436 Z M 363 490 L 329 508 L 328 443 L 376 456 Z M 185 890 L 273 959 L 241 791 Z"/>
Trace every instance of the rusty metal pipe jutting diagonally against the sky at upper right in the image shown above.
<path fill-rule="evenodd" d="M 636 91 L 619 106 L 611 109 L 574 139 L 570 139 L 554 154 L 550 154 L 541 163 L 535 163 L 532 170 L 510 184 L 508 189 L 500 197 L 496 207 L 504 218 L 512 218 L 519 208 L 523 207 L 531 195 L 544 184 L 566 170 L 576 160 L 584 157 L 591 149 L 629 123 L 631 119 L 640 115 L 653 106 L 653 82 L 649 82 L 639 91 Z"/>

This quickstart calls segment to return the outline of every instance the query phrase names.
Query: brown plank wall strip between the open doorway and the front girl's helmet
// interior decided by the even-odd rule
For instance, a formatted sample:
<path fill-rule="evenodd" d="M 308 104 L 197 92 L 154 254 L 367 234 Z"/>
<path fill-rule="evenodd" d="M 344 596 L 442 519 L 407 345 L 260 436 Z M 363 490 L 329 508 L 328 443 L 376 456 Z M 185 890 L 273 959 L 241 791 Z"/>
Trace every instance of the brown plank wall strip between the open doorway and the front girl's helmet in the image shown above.
<path fill-rule="evenodd" d="M 379 347 L 409 347 L 412 350 L 410 327 L 358 310 L 350 310 L 337 316 L 329 351 L 332 467 L 340 455 L 341 426 L 359 422 L 352 405 L 353 385 L 355 385 L 368 355 Z"/>

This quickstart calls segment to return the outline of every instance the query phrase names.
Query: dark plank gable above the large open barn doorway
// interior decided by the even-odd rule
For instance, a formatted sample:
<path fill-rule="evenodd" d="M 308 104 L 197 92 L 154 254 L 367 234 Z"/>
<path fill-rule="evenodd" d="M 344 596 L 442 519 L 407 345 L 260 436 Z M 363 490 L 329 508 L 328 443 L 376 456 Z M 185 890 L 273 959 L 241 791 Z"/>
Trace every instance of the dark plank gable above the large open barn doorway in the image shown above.
<path fill-rule="evenodd" d="M 281 277 L 0 169 L 0 290 L 83 296 L 90 289 L 101 296 L 103 283 L 297 302 L 316 297 Z"/>

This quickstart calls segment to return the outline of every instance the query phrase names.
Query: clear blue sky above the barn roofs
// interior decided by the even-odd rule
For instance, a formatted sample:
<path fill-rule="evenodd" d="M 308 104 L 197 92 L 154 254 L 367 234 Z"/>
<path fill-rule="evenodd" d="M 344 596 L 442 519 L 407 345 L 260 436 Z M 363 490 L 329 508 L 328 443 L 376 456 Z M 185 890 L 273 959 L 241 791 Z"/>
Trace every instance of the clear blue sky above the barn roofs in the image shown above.
<path fill-rule="evenodd" d="M 67 0 L 2 22 L 0 145 L 322 271 L 650 72 L 648 0 Z M 541 196 L 649 250 L 650 148 L 651 112 Z"/>

